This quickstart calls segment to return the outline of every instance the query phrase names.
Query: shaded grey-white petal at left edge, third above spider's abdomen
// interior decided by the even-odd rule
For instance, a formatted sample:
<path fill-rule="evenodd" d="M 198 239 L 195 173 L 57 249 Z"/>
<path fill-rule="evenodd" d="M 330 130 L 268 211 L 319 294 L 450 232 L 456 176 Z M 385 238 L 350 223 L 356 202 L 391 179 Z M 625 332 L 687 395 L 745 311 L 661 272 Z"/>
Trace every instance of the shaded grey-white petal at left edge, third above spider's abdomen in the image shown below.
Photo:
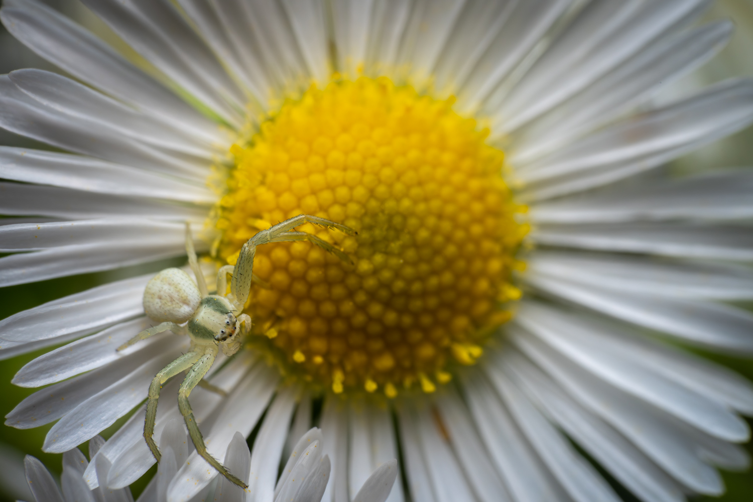
<path fill-rule="evenodd" d="M 117 218 L 130 214 L 139 218 L 186 221 L 203 218 L 206 207 L 0 182 L 0 213 L 39 214 L 69 220 Z"/>

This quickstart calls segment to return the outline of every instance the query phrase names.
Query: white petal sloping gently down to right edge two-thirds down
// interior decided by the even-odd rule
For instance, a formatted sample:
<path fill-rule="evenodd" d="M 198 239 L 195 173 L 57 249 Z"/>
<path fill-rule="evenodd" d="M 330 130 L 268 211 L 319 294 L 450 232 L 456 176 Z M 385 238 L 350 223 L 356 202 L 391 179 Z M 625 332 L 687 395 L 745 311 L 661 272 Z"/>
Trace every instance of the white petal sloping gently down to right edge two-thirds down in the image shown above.
<path fill-rule="evenodd" d="M 709 348 L 751 353 L 753 315 L 735 307 L 683 298 L 645 296 L 529 275 L 536 288 L 652 330 Z"/>

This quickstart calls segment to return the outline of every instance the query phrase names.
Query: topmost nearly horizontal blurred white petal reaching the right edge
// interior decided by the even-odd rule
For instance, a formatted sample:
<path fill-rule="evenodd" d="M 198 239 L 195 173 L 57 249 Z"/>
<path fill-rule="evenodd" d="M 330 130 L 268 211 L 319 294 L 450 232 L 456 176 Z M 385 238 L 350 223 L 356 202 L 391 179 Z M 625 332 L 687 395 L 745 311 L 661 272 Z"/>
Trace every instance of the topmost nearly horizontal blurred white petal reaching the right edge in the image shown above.
<path fill-rule="evenodd" d="M 753 169 L 725 169 L 680 180 L 620 187 L 532 205 L 537 223 L 753 218 Z"/>

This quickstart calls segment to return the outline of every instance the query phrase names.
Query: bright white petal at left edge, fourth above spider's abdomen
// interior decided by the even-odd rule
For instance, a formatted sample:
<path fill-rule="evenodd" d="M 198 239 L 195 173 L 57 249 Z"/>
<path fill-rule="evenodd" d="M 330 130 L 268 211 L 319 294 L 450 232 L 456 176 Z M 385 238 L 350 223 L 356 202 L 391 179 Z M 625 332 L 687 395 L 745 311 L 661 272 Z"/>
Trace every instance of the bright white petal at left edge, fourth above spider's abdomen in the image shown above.
<path fill-rule="evenodd" d="M 26 148 L 0 147 L 0 176 L 15 181 L 47 184 L 127 196 L 211 203 L 216 196 L 178 178 L 168 178 L 129 166 L 80 155 Z"/>

